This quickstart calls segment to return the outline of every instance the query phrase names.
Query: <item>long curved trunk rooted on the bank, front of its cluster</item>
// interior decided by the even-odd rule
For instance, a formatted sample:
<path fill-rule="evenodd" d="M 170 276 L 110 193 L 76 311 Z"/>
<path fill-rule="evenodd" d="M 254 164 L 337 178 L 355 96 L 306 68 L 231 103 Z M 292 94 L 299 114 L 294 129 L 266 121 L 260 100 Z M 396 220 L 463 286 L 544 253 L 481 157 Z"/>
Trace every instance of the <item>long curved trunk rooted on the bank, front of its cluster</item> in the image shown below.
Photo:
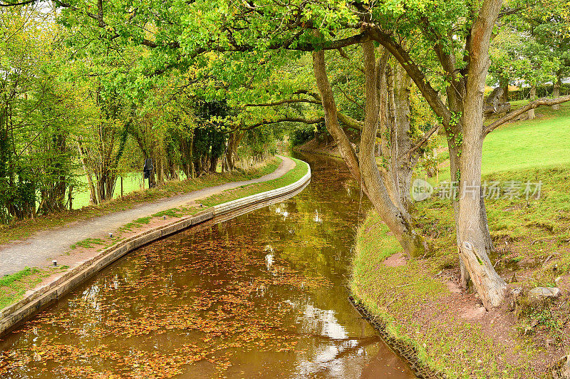
<path fill-rule="evenodd" d="M 363 43 L 362 47 L 366 75 L 366 109 L 360 150 L 362 177 L 366 182 L 366 188 L 368 188 L 368 197 L 406 254 L 420 256 L 427 251 L 427 244 L 420 234 L 414 231 L 408 218 L 409 215 L 403 214 L 388 196 L 388 191 L 381 180 L 380 171 L 376 165 L 374 147 L 380 112 L 378 75 L 383 76 L 384 73 L 383 70 L 379 73 L 376 70 L 374 43 L 372 41 L 366 42 Z M 385 65 L 380 65 L 380 68 L 382 66 Z"/>

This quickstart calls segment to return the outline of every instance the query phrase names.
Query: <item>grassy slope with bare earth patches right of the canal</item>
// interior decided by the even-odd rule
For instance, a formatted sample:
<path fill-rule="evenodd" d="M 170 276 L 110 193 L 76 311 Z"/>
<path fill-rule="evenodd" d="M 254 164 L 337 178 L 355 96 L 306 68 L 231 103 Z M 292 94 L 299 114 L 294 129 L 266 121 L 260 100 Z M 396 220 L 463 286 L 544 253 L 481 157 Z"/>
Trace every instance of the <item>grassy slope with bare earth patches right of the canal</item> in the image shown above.
<path fill-rule="evenodd" d="M 450 378 L 541 378 L 569 353 L 570 105 L 539 113 L 489 135 L 483 157 L 484 180 L 523 183 L 519 198 L 486 202 L 495 269 L 523 289 L 514 308 L 486 312 L 475 294 L 460 291 L 450 200 L 416 203 L 433 246 L 421 259 L 403 259 L 375 212 L 358 229 L 356 300 L 415 346 L 421 363 Z M 526 199 L 527 181 L 542 183 L 540 199 Z M 562 295 L 532 301 L 524 294 L 535 286 L 558 286 Z"/>

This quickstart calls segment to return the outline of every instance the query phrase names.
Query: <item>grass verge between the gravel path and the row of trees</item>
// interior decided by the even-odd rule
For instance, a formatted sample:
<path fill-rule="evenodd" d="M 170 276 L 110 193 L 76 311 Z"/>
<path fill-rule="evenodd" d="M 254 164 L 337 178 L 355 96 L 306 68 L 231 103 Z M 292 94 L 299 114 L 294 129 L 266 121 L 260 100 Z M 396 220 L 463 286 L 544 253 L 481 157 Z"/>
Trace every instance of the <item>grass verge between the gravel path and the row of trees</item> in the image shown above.
<path fill-rule="evenodd" d="M 171 197 L 176 194 L 201 190 L 206 187 L 222 185 L 227 182 L 239 182 L 242 180 L 252 180 L 263 175 L 274 172 L 281 160 L 273 158 L 259 167 L 252 168 L 248 171 L 235 171 L 223 174 L 209 174 L 198 177 L 194 180 L 181 180 L 176 182 L 167 182 L 161 187 L 150 188 L 147 190 L 138 190 L 130 192 L 120 199 L 112 199 L 104 204 L 83 207 L 82 209 L 66 210 L 56 214 L 49 214 L 36 219 L 26 219 L 12 224 L 0 224 L 0 244 L 4 244 L 14 239 L 25 239 L 34 232 L 49 229 L 52 227 L 60 227 L 70 222 L 90 217 L 101 216 L 112 212 L 129 209 L 143 202 L 152 202 L 165 197 Z"/>

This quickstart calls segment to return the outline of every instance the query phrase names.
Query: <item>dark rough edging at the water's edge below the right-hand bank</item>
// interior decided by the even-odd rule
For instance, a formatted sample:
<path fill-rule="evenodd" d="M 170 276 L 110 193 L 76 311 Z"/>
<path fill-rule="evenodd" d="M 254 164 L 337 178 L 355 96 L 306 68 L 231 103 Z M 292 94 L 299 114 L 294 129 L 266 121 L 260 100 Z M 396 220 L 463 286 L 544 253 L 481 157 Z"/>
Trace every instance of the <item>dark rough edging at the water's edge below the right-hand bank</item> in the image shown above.
<path fill-rule="evenodd" d="M 393 336 L 390 336 L 390 333 L 386 331 L 386 326 L 383 321 L 378 320 L 372 316 L 372 314 L 366 309 L 366 307 L 362 306 L 361 304 L 357 303 L 353 296 L 348 296 L 348 301 L 351 302 L 353 307 L 361 314 L 362 318 L 368 321 L 371 326 L 380 334 L 383 341 L 390 346 L 390 348 L 400 357 L 404 358 L 410 364 L 410 368 L 415 373 L 418 378 L 422 379 L 443 379 L 445 375 L 440 373 L 434 373 L 430 368 L 425 367 L 420 362 L 420 358 L 418 357 L 418 351 L 416 351 L 414 346 L 409 345 L 408 343 L 404 343 L 403 341 L 396 340 Z"/>

